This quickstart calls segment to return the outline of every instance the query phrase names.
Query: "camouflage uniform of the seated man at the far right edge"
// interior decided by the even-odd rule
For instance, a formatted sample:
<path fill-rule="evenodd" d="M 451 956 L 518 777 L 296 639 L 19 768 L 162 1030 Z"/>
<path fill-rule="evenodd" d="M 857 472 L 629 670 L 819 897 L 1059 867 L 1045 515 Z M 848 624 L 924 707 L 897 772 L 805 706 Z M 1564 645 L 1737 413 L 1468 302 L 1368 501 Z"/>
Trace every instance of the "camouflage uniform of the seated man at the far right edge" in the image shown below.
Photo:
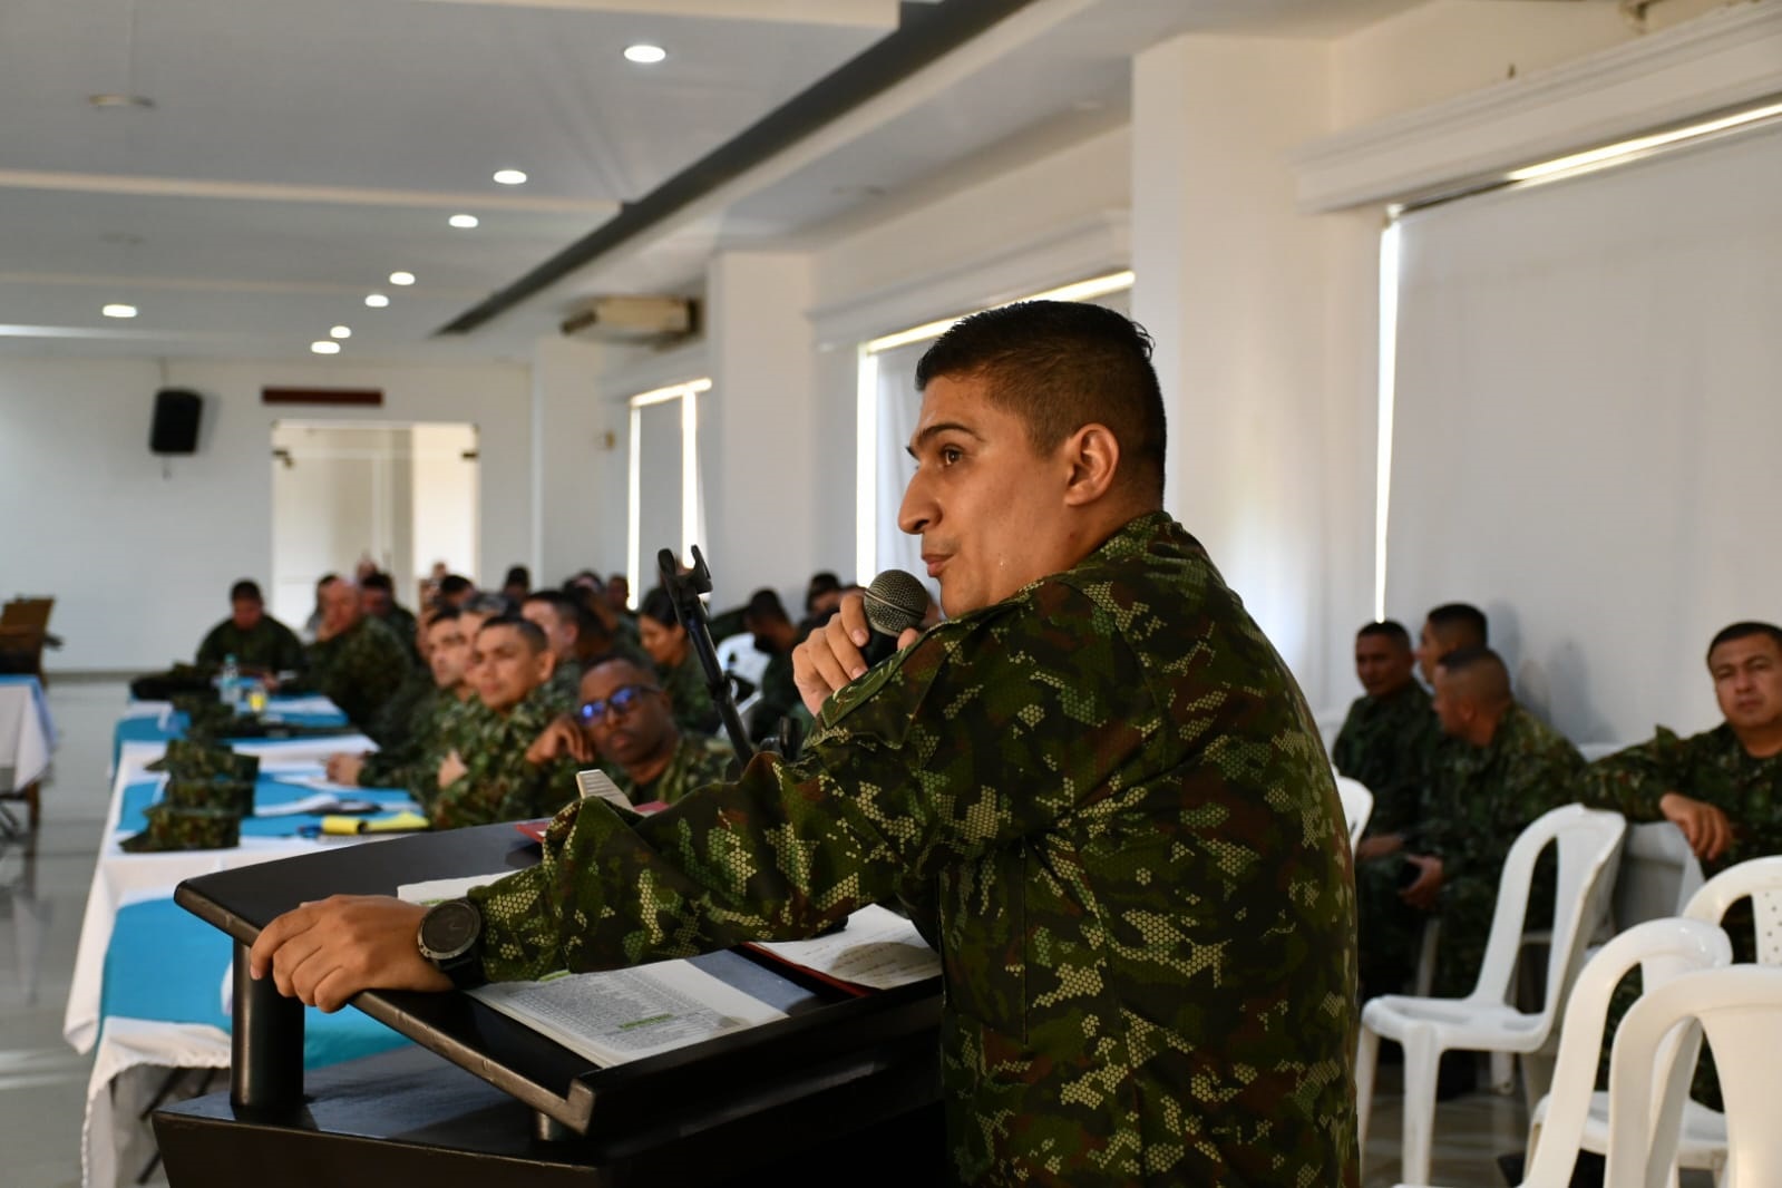
<path fill-rule="evenodd" d="M 1663 821 L 1659 800 L 1664 793 L 1707 801 L 1727 814 L 1732 842 L 1718 858 L 1700 860 L 1707 878 L 1739 862 L 1782 853 L 1782 755 L 1757 759 L 1745 750 L 1730 725 L 1720 723 L 1688 739 L 1659 727 L 1650 743 L 1598 759 L 1590 769 L 1591 803 L 1614 809 L 1631 823 Z M 1734 903 L 1721 924 L 1732 937 L 1734 960 L 1755 962 L 1757 923 L 1752 901 Z M 1609 1083 L 1609 1046 L 1614 1042 L 1614 1029 L 1639 997 L 1639 971 L 1629 971 L 1609 999 L 1598 1072 L 1604 1086 Z M 1713 1053 L 1705 1044 L 1691 1092 L 1696 1101 L 1714 1110 L 1721 1108 L 1720 1081 L 1714 1076 Z"/>

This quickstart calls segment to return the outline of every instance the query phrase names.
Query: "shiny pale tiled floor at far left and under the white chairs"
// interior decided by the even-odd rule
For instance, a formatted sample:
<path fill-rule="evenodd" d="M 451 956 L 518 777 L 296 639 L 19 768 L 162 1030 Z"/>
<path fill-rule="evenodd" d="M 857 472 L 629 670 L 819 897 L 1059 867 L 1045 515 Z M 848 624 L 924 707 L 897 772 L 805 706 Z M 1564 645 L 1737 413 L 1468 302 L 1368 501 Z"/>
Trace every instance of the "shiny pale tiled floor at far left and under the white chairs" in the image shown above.
<path fill-rule="evenodd" d="M 57 680 L 50 711 L 61 732 L 45 787 L 36 844 L 0 851 L 0 1183 L 5 1188 L 80 1184 L 80 1120 L 89 1058 L 62 1042 L 62 1006 L 80 914 L 107 801 L 110 732 L 125 704 L 116 682 Z M 1397 1183 L 1397 1067 L 1381 1092 L 1363 1160 L 1363 1183 Z M 1436 1113 L 1435 1181 L 1497 1188 L 1497 1156 L 1520 1151 L 1522 1099 L 1472 1094 Z M 159 1181 L 151 1181 L 159 1183 Z"/>

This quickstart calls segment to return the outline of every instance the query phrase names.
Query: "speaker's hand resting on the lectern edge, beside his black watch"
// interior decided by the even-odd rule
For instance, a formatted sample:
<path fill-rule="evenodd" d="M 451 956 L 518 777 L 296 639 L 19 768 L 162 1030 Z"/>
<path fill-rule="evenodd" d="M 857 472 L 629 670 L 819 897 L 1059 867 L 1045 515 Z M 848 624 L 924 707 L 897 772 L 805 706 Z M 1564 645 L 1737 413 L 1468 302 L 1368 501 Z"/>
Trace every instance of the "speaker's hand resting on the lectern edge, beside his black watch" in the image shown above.
<path fill-rule="evenodd" d="M 335 1012 L 360 990 L 449 990 L 451 978 L 421 956 L 428 908 L 388 896 L 330 896 L 260 930 L 249 972 L 285 997 Z"/>

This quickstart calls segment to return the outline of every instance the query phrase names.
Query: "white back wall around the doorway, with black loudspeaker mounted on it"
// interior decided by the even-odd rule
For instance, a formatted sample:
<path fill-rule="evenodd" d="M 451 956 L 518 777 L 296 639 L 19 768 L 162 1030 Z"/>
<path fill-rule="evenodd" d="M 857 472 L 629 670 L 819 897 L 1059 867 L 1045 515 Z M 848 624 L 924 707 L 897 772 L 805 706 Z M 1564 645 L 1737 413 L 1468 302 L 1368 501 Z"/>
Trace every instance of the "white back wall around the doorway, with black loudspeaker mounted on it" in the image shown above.
<path fill-rule="evenodd" d="M 269 579 L 271 424 L 264 385 L 374 387 L 383 408 L 331 420 L 472 422 L 481 433 L 485 566 L 531 552 L 524 367 L 0 358 L 0 586 L 53 593 L 61 670 L 153 670 L 189 657 L 239 577 Z M 198 454 L 148 452 L 151 395 L 205 395 Z M 495 574 L 499 579 L 499 574 Z"/>

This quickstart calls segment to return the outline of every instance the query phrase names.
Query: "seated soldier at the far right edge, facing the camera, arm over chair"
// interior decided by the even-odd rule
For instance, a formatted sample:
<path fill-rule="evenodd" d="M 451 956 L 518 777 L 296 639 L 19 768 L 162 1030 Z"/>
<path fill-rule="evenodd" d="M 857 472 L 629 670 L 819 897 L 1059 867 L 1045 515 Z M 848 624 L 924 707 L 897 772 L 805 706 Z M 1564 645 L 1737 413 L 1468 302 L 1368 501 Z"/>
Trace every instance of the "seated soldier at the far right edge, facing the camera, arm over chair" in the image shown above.
<path fill-rule="evenodd" d="M 1673 821 L 1702 873 L 1713 878 L 1739 862 L 1782 853 L 1782 627 L 1732 623 L 1707 645 L 1707 671 L 1723 721 L 1686 739 L 1659 727 L 1650 743 L 1598 759 L 1590 771 L 1590 798 L 1629 821 Z M 1721 924 L 1734 960 L 1757 960 L 1752 901 L 1734 903 Z M 1609 1005 L 1602 1083 L 1614 1028 L 1636 997 L 1638 971 L 1616 987 Z M 1721 1108 L 1705 1046 L 1693 1095 Z"/>

